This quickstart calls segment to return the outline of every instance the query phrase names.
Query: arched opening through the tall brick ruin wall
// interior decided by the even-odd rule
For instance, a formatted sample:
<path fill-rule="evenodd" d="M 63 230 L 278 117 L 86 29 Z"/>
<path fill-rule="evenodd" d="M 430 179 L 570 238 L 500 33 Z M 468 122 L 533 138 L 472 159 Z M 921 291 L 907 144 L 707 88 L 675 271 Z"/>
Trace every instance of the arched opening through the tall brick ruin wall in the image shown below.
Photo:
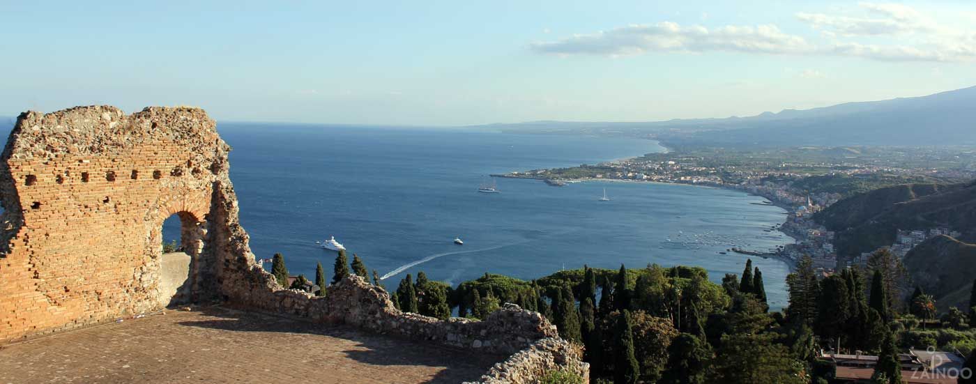
<path fill-rule="evenodd" d="M 159 260 L 159 301 L 167 306 L 193 300 L 203 250 L 203 222 L 181 211 L 163 221 Z"/>

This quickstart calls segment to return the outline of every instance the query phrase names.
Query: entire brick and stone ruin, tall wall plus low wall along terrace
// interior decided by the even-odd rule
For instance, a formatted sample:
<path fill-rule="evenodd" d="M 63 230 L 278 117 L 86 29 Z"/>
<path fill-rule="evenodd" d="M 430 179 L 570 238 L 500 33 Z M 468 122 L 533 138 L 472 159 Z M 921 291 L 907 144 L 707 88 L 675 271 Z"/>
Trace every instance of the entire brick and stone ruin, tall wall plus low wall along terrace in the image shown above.
<path fill-rule="evenodd" d="M 21 114 L 0 156 L 0 343 L 170 304 L 160 285 L 162 223 L 177 214 L 190 254 L 182 299 L 515 354 L 485 376 L 491 382 L 589 371 L 578 347 L 517 306 L 484 322 L 438 321 L 400 312 L 385 290 L 354 276 L 326 298 L 279 287 L 239 224 L 229 150 L 196 108 Z"/>

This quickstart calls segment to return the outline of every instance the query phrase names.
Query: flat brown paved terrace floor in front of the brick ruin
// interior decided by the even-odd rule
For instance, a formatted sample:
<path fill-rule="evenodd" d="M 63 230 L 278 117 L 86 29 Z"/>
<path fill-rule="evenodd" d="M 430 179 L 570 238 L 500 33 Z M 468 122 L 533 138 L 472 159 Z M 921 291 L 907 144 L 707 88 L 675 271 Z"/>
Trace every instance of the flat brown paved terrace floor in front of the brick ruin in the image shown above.
<path fill-rule="evenodd" d="M 502 360 L 221 307 L 0 349 L 4 383 L 460 383 Z"/>

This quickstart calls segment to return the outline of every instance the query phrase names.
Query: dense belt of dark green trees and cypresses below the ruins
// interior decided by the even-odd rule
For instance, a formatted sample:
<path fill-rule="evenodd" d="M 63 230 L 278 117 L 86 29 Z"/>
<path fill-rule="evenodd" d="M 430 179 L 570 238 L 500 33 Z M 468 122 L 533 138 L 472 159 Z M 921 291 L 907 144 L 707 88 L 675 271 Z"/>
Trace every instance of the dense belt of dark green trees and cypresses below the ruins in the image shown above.
<path fill-rule="evenodd" d="M 284 257 L 274 260 L 272 270 L 284 271 L 287 279 Z M 353 260 L 351 271 L 366 275 L 363 261 Z M 457 288 L 419 272 L 416 280 L 406 275 L 391 299 L 402 311 L 437 319 L 449 318 L 452 310 L 483 319 L 506 302 L 538 311 L 561 337 L 585 347 L 593 383 L 829 383 L 834 366 L 817 360 L 819 349 L 877 355 L 874 383 L 900 382 L 898 353 L 909 347 L 957 351 L 972 365 L 976 287 L 969 308 L 940 314 L 921 288 L 902 294 L 908 280 L 896 261 L 879 251 L 864 270 L 824 277 L 804 257 L 787 278 L 789 307 L 773 313 L 752 260 L 741 275 L 726 274 L 721 285 L 705 269 L 684 266 L 584 266 L 531 282 L 485 274 Z M 340 252 L 335 270 L 348 275 L 347 264 Z M 325 280 L 320 273 L 317 268 L 316 281 Z M 541 380 L 582 382 L 560 370 Z"/>

